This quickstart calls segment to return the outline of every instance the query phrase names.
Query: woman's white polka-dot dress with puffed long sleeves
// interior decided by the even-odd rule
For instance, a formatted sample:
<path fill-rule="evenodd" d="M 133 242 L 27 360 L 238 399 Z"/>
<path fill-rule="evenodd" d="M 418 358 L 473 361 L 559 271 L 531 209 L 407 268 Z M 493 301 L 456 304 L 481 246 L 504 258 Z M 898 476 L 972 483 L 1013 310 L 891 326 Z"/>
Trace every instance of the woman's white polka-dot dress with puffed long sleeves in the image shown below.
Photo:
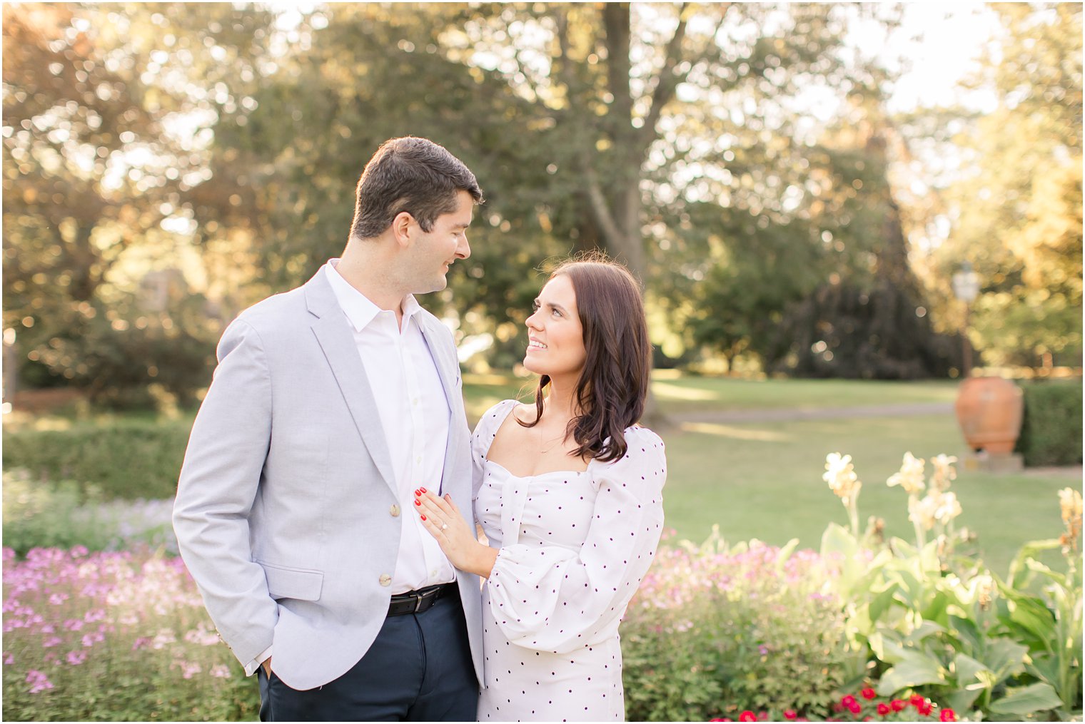
<path fill-rule="evenodd" d="M 515 405 L 490 408 L 471 443 L 475 515 L 499 548 L 478 721 L 624 721 L 617 629 L 663 532 L 663 441 L 629 427 L 621 460 L 518 477 L 486 460 Z"/>

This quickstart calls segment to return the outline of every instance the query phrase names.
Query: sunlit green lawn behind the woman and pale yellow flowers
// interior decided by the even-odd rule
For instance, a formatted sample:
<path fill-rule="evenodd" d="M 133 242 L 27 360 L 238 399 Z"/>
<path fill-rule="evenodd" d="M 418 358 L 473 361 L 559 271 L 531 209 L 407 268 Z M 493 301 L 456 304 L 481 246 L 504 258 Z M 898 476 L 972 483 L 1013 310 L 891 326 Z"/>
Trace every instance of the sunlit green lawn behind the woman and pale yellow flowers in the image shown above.
<path fill-rule="evenodd" d="M 464 375 L 473 425 L 490 404 L 515 397 L 526 384 L 512 376 Z M 531 392 L 529 387 L 525 387 Z M 817 547 L 830 521 L 846 525 L 840 501 L 821 480 L 825 456 L 852 455 L 864 482 L 863 521 L 884 518 L 888 535 L 911 539 L 907 496 L 886 478 L 905 452 L 917 457 L 965 453 L 952 413 L 919 416 L 805 419 L 773 423 L 680 423 L 686 413 L 756 409 L 820 410 L 903 402 L 952 402 L 952 382 L 854 382 L 728 379 L 656 372 L 653 390 L 676 426 L 661 430 L 669 471 L 667 527 L 679 538 L 701 541 L 713 523 L 728 541 L 758 538 L 781 544 L 797 538 Z M 1057 491 L 1080 487 L 1077 474 L 992 475 L 958 465 L 953 490 L 963 513 L 958 523 L 979 535 L 983 557 L 1005 572 L 1025 541 L 1057 538 L 1061 530 Z"/>

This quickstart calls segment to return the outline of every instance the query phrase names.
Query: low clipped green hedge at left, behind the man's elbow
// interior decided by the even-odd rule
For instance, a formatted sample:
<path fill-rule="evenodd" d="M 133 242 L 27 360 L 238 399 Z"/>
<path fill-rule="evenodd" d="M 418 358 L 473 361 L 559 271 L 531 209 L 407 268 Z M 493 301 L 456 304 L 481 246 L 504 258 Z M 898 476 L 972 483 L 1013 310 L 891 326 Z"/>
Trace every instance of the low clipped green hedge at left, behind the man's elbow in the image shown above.
<path fill-rule="evenodd" d="M 3 434 L 3 466 L 42 480 L 76 480 L 104 500 L 161 499 L 177 492 L 189 419 L 123 421 L 67 430 Z"/>

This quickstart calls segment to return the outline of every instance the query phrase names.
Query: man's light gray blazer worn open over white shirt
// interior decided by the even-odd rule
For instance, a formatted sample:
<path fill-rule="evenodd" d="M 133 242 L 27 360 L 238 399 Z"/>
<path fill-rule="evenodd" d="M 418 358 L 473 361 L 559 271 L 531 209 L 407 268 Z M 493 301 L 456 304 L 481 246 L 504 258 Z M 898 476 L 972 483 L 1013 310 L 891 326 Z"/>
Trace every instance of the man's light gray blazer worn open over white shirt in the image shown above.
<path fill-rule="evenodd" d="M 473 530 L 456 347 L 433 314 L 416 319 L 451 409 L 442 492 Z M 222 335 L 174 528 L 238 660 L 247 664 L 273 644 L 275 672 L 296 689 L 346 673 L 387 615 L 399 527 L 416 513 L 398 499 L 379 414 L 323 269 L 245 310 Z M 457 577 L 482 682 L 478 578 Z"/>

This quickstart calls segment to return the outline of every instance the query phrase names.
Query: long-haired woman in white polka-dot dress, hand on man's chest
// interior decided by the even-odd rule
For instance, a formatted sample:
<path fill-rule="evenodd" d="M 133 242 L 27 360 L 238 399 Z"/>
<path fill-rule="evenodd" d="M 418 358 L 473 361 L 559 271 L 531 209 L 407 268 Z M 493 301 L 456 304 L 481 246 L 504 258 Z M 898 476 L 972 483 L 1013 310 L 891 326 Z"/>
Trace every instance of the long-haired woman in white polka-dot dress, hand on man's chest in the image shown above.
<path fill-rule="evenodd" d="M 618 623 L 663 530 L 663 441 L 648 393 L 643 305 L 626 269 L 569 261 L 527 319 L 535 403 L 505 400 L 472 438 L 475 539 L 419 489 L 452 565 L 486 578 L 478 720 L 625 720 Z"/>

